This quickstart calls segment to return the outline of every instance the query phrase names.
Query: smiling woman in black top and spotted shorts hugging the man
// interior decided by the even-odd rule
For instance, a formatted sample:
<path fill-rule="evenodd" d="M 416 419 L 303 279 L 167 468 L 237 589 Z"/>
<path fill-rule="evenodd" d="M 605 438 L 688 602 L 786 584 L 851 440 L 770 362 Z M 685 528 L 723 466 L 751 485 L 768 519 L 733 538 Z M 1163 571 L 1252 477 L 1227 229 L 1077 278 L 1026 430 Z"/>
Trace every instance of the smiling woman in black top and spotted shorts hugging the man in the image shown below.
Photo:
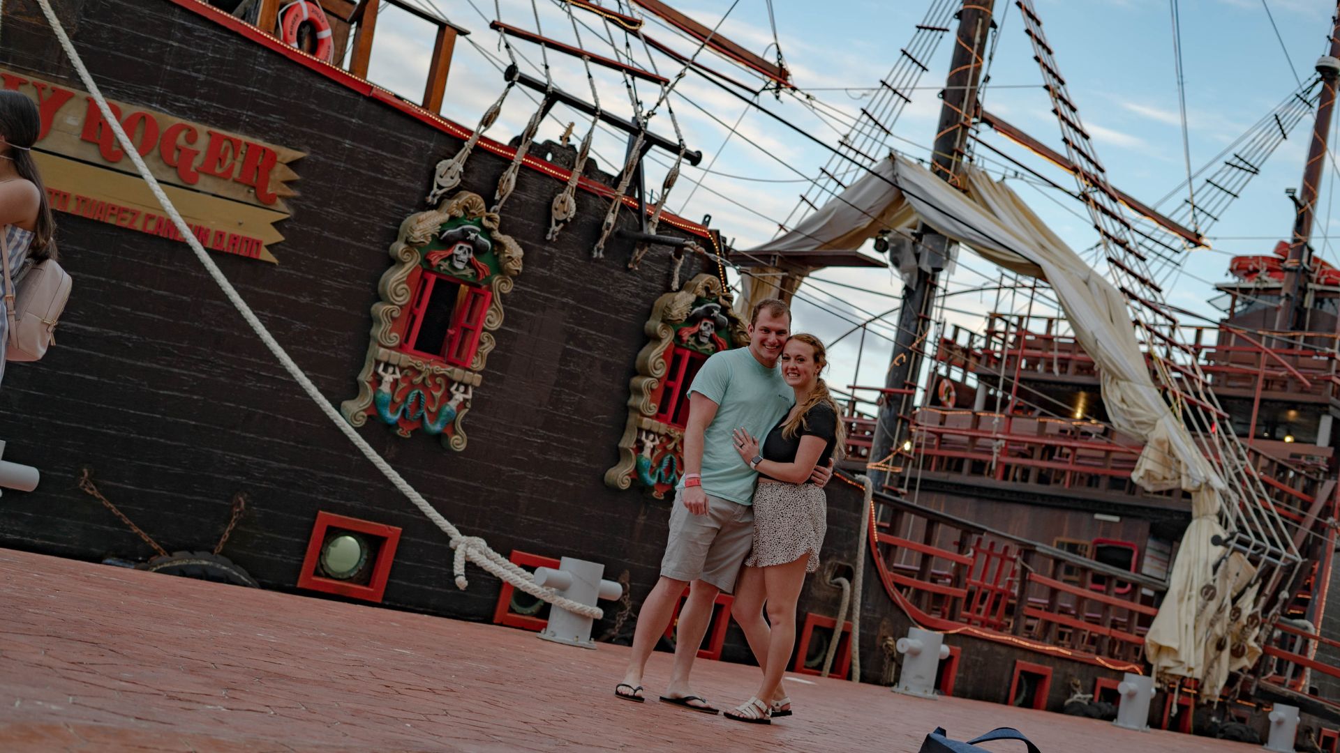
<path fill-rule="evenodd" d="M 758 472 L 758 489 L 753 498 L 753 552 L 736 586 L 732 614 L 762 669 L 758 693 L 726 711 L 726 717 L 741 722 L 772 724 L 773 715 L 791 714 L 781 673 L 796 643 L 800 587 L 807 572 L 819 569 L 819 548 L 828 527 L 824 490 L 808 480 L 815 465 L 827 464 L 843 439 L 838 405 L 819 378 L 827 363 L 817 338 L 792 335 L 780 364 L 781 376 L 796 393 L 796 405 L 768 433 L 761 449 L 748 431 L 736 430 L 736 450 Z M 768 622 L 762 619 L 764 602 Z"/>

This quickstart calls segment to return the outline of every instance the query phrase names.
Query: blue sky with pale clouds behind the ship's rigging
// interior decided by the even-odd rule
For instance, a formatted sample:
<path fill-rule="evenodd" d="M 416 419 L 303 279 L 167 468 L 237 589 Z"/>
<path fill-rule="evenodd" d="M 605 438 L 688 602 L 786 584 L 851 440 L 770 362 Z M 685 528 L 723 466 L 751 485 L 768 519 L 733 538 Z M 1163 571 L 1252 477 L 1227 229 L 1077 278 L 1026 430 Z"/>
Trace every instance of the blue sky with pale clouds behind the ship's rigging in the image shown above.
<path fill-rule="evenodd" d="M 505 67 L 509 56 L 498 35 L 489 29 L 489 21 L 496 17 L 606 56 L 614 56 L 615 47 L 622 52 L 626 44 L 631 46 L 632 58 L 641 67 L 654 67 L 671 79 L 682 67 L 663 55 L 649 54 L 635 36 L 627 39 L 622 29 L 607 27 L 595 15 L 576 11 L 570 17 L 560 0 L 409 1 L 434 9 L 472 32 L 456 46 L 442 107 L 445 117 L 468 127 L 474 127 L 504 88 L 500 66 Z M 618 0 L 596 1 L 618 8 Z M 797 95 L 779 99 L 764 92 L 757 102 L 835 146 L 894 67 L 899 48 L 911 42 L 914 27 L 922 21 L 927 7 L 938 1 L 945 0 L 772 0 L 770 5 L 766 0 L 683 0 L 674 7 L 709 28 L 720 23 L 720 33 L 766 58 L 775 55 L 769 46 L 776 40 L 792 71 Z M 1335 11 L 1325 0 L 1174 1 L 1181 21 L 1186 147 L 1168 0 L 1034 0 L 1071 99 L 1079 107 L 1111 185 L 1151 205 L 1168 197 L 1156 205 L 1168 213 L 1186 198 L 1185 189 L 1174 189 L 1186 178 L 1187 158 L 1191 169 L 1199 170 L 1289 96 L 1300 79 L 1313 75 L 1313 64 L 1327 51 Z M 636 9 L 631 12 L 642 15 Z M 997 42 L 990 80 L 984 91 L 986 109 L 1064 153 L 1018 8 L 1008 0 L 997 0 L 994 19 Z M 645 32 L 689 55 L 697 48 L 650 15 Z M 949 68 L 951 46 L 953 39 L 946 35 L 935 54 L 923 60 L 930 70 L 918 82 L 913 102 L 896 122 L 884 123 L 892 135 L 867 151 L 879 154 L 894 149 L 913 158 L 929 157 L 941 110 L 938 91 Z M 418 100 L 431 48 L 433 28 L 426 21 L 383 5 L 368 78 Z M 512 54 L 523 71 L 544 78 L 545 58 L 539 47 L 513 40 Z M 698 59 L 740 80 L 760 80 L 712 51 L 701 52 Z M 579 58 L 557 52 L 548 54 L 548 70 L 555 86 L 587 100 L 595 86 L 602 107 L 631 119 L 632 105 L 618 72 L 594 66 L 588 82 Z M 520 133 L 536 106 L 532 94 L 520 88 L 511 92 L 488 135 L 507 142 Z M 698 167 L 683 166 L 669 209 L 695 221 L 710 214 L 712 225 L 733 240 L 736 248 L 768 241 L 779 224 L 793 225 L 799 218 L 793 212 L 800 193 L 829 162 L 831 153 L 823 146 L 697 74 L 682 78 L 659 105 L 659 92 L 645 82 L 638 84 L 636 95 L 643 110 L 654 107 L 653 131 L 674 139 L 678 126 L 689 147 L 704 154 Z M 671 110 L 677 122 L 671 121 Z M 557 139 L 568 122 L 575 123 L 575 138 L 580 138 L 590 117 L 559 106 L 541 125 L 539 139 Z M 1206 233 L 1210 248 L 1183 252 L 1179 269 L 1164 285 L 1168 303 L 1214 319 L 1218 312 L 1207 301 L 1217 295 L 1214 284 L 1229 280 L 1230 259 L 1268 255 L 1276 241 L 1289 236 L 1293 206 L 1284 192 L 1301 182 L 1311 130 L 1312 117 L 1308 115 Z M 984 131 L 988 143 L 1073 189 L 1075 181 L 1067 173 Z M 1333 139 L 1332 150 L 1335 146 Z M 602 169 L 618 172 L 624 149 L 622 134 L 598 130 L 594 153 Z M 1006 185 L 1072 248 L 1081 251 L 1096 243 L 1083 205 L 1052 189 L 1038 188 L 1033 178 L 1013 177 L 1013 169 L 1002 173 L 1004 161 L 988 150 L 978 150 L 978 157 L 980 166 L 996 177 L 1004 174 Z M 659 189 L 673 161 L 673 154 L 651 151 L 646 165 L 650 189 Z M 1340 206 L 1333 208 L 1332 202 L 1336 172 L 1332 157 L 1323 176 L 1313 245 L 1323 259 L 1340 265 L 1340 233 L 1336 244 L 1327 237 L 1340 216 Z M 592 198 L 579 197 L 578 201 Z M 607 257 L 603 263 L 619 260 Z M 998 299 L 996 291 L 974 292 L 974 288 L 997 285 L 1000 279 L 1000 271 L 962 255 L 949 283 L 954 295 L 945 301 L 947 324 L 980 331 L 989 311 L 1021 311 L 1025 301 L 1020 296 L 1005 293 Z M 795 331 L 813 332 L 832 344 L 855 328 L 831 347 L 829 385 L 838 389 L 852 383 L 882 386 L 896 320 L 896 312 L 887 312 L 896 310 L 900 289 L 902 283 L 891 271 L 843 268 L 819 271 L 801 287 L 793 301 Z M 876 319 L 882 314 L 887 315 Z M 859 327 L 867 320 L 874 322 Z"/>

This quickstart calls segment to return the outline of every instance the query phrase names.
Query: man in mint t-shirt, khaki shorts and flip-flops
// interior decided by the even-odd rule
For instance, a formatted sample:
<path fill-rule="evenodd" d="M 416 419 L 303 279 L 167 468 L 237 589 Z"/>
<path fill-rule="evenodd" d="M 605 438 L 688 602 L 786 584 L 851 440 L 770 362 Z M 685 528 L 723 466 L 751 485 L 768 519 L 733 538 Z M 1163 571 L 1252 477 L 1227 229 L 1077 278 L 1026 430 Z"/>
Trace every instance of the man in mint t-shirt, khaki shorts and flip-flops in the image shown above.
<path fill-rule="evenodd" d="M 768 431 L 791 410 L 793 393 L 781 378 L 777 358 L 787 344 L 791 311 L 768 299 L 749 318 L 749 347 L 712 355 L 689 390 L 689 421 L 683 431 L 683 477 L 670 513 L 670 537 L 661 561 L 661 580 L 638 612 L 628 670 L 615 689 L 620 698 L 643 702 L 642 673 L 657 640 L 670 623 L 679 595 L 691 584 L 679 612 L 674 673 L 661 699 L 716 714 L 689 687 L 720 591 L 733 591 L 740 565 L 753 541 L 754 482 L 758 474 L 740 462 L 732 431 L 754 437 Z M 815 469 L 813 481 L 827 484 L 831 469 Z"/>

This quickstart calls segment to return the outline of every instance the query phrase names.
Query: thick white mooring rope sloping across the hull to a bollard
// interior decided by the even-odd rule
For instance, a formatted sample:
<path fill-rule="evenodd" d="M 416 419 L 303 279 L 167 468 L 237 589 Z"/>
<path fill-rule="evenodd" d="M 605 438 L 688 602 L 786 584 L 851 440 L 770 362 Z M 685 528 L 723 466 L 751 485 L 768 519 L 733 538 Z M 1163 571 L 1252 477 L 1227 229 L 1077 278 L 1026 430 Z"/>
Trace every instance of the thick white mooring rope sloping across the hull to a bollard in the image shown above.
<path fill-rule="evenodd" d="M 453 549 L 456 549 L 453 572 L 456 575 L 457 588 L 464 590 L 468 584 L 465 579 L 465 560 L 470 560 L 474 564 L 484 568 L 485 571 L 488 571 L 489 573 L 494 575 L 496 577 L 511 583 L 516 588 L 520 588 L 521 591 L 525 591 L 527 594 L 537 599 L 543 599 L 556 607 L 561 607 L 564 610 L 568 610 L 570 612 L 575 612 L 582 616 L 600 619 L 604 615 L 604 611 L 600 610 L 599 607 L 582 604 L 571 599 L 559 596 L 557 594 L 553 592 L 553 590 L 544 588 L 543 586 L 536 584 L 535 577 L 529 572 L 521 569 L 503 555 L 490 549 L 482 539 L 477 536 L 462 535 L 454 525 L 452 525 L 449 520 L 446 520 L 436 509 L 433 509 L 433 505 L 430 505 L 429 501 L 425 500 L 422 494 L 419 494 L 413 486 L 410 486 L 409 481 L 406 481 L 394 468 L 391 468 L 386 462 L 386 460 L 382 458 L 382 456 L 379 456 L 377 450 L 373 449 L 373 446 L 368 445 L 367 441 L 364 441 L 358 434 L 358 431 L 355 431 L 354 427 L 348 425 L 347 421 L 344 421 L 344 418 L 335 410 L 335 406 L 332 406 L 322 395 L 320 390 L 316 389 L 316 385 L 314 385 L 312 381 L 308 379 L 306 374 L 303 374 L 303 370 L 299 368 L 297 363 L 295 363 L 293 359 L 289 358 L 287 352 L 284 352 L 283 346 L 280 346 L 277 340 L 275 340 L 275 338 L 269 334 L 269 330 L 267 330 L 265 326 L 261 324 L 260 319 L 256 318 L 256 314 L 251 310 L 249 305 L 247 305 L 247 301 L 243 300 L 241 295 L 237 293 L 237 289 L 233 288 L 232 283 L 228 281 L 228 277 L 225 277 L 218 265 L 214 264 L 214 260 L 209 257 L 209 253 L 205 251 L 205 247 L 202 247 L 200 241 L 196 238 L 196 234 L 186 225 L 186 221 L 182 220 L 181 214 L 177 213 L 177 208 L 173 206 L 172 201 L 168 198 L 162 188 L 158 185 L 158 181 L 154 180 L 153 173 L 150 173 L 149 167 L 145 166 L 145 161 L 139 157 L 139 151 L 135 149 L 134 143 L 126 135 L 125 129 L 121 127 L 121 121 L 117 119 L 115 115 L 113 115 L 110 107 L 107 106 L 107 100 L 103 99 L 102 92 L 98 90 L 98 84 L 92 80 L 92 75 L 88 72 L 88 68 L 84 67 L 83 60 L 79 58 L 79 52 L 75 51 L 74 44 L 66 35 L 64 27 L 60 25 L 60 19 L 58 19 L 55 11 L 51 9 L 51 1 L 38 0 L 38 4 L 42 5 L 42 12 L 47 16 L 47 20 L 51 23 L 51 29 L 56 33 L 56 38 L 60 40 L 60 47 L 63 47 L 66 54 L 70 56 L 70 62 L 74 64 L 75 71 L 78 71 L 79 79 L 83 80 L 83 84 L 88 88 L 88 95 L 92 96 L 94 102 L 98 103 L 98 110 L 102 113 L 102 117 L 106 119 L 107 125 L 111 126 L 113 133 L 117 134 L 117 141 L 121 143 L 122 149 L 126 150 L 126 154 L 130 157 L 130 159 L 135 163 L 135 167 L 139 170 L 141 177 L 143 177 L 145 182 L 149 184 L 149 190 L 153 192 L 154 197 L 158 200 L 158 204 L 162 205 L 163 212 L 166 212 L 168 216 L 172 217 L 172 221 L 177 226 L 177 230 L 181 232 L 181 234 L 186 238 L 186 243 L 190 244 L 192 252 L 196 253 L 196 259 L 198 259 L 200 263 L 205 267 L 205 271 L 209 272 L 209 276 L 213 277 L 214 283 L 218 284 L 218 287 L 224 291 L 224 295 L 228 296 L 228 300 L 232 301 L 233 307 L 237 308 L 237 312 L 241 314 L 243 319 L 247 320 L 247 324 L 249 324 L 252 331 L 256 332 L 256 336 L 260 338 L 263 343 L 265 343 L 265 347 L 269 348 L 269 352 L 273 354 L 273 356 L 279 360 L 279 363 L 284 367 L 284 370 L 288 371 L 289 376 L 292 376 L 293 381 L 297 382 L 297 385 L 303 389 L 303 391 L 307 393 L 307 395 L 312 399 L 312 402 L 315 402 L 316 406 L 322 410 L 322 413 L 326 414 L 326 418 L 328 418 L 331 423 L 334 423 L 335 427 L 339 429 L 348 438 L 348 441 L 352 442 L 354 446 L 356 446 L 359 452 L 362 452 L 363 456 L 373 462 L 374 466 L 377 466 L 379 472 L 382 472 L 382 476 L 385 476 L 397 489 L 399 489 L 402 494 L 405 494 L 414 504 L 414 506 L 419 509 L 419 512 L 422 512 L 429 520 L 431 520 L 438 528 L 442 529 L 442 532 L 445 532 L 450 537 L 450 545 Z"/>

